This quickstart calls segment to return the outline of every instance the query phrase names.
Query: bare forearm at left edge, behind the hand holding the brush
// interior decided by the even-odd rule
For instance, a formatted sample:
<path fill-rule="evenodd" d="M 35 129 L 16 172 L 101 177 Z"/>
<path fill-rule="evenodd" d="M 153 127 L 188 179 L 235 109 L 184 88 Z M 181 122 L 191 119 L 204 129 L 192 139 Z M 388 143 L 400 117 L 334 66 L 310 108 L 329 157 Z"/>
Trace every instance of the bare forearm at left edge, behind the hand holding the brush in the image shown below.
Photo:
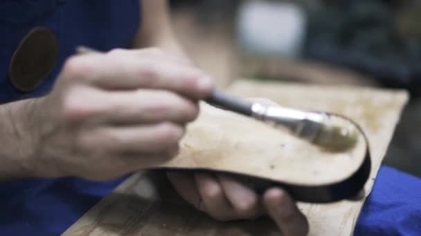
<path fill-rule="evenodd" d="M 0 105 L 0 181 L 30 177 L 34 152 L 30 114 L 36 100 Z"/>

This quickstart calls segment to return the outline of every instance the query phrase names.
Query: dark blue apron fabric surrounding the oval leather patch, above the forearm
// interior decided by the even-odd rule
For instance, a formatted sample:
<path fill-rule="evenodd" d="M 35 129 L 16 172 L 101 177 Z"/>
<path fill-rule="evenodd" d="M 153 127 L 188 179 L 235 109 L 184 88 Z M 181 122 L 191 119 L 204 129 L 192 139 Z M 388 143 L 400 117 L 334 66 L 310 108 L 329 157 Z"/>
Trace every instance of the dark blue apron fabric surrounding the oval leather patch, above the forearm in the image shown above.
<path fill-rule="evenodd" d="M 138 0 L 1 0 L 0 104 L 49 92 L 76 46 L 98 50 L 128 48 L 139 26 L 138 4 Z M 46 26 L 55 32 L 59 59 L 42 86 L 27 94 L 12 86 L 8 67 L 21 39 L 36 26 Z"/>

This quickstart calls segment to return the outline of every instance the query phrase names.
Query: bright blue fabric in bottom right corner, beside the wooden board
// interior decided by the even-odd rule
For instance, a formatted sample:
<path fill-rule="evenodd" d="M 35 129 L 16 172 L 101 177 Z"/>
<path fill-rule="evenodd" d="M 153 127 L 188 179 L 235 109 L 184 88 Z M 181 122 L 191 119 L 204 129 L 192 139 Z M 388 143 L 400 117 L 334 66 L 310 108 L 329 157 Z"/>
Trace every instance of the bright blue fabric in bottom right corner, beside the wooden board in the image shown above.
<path fill-rule="evenodd" d="M 382 167 L 355 235 L 421 235 L 421 179 Z"/>

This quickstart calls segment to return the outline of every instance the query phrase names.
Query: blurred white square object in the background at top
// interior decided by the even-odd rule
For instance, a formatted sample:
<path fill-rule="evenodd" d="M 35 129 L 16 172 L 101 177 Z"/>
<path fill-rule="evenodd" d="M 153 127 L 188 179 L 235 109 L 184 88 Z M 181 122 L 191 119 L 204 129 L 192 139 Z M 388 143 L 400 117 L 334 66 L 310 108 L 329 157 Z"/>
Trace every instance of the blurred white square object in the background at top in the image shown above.
<path fill-rule="evenodd" d="M 305 12 L 292 3 L 247 1 L 240 8 L 238 36 L 247 50 L 264 55 L 300 55 Z"/>

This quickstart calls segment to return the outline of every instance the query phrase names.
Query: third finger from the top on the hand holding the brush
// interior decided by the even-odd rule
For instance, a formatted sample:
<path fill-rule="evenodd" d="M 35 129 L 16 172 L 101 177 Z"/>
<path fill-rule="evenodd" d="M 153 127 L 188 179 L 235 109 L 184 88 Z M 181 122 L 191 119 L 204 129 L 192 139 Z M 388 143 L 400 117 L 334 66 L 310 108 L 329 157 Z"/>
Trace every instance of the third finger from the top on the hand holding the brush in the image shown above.
<path fill-rule="evenodd" d="M 98 127 L 81 132 L 78 146 L 88 153 L 162 154 L 178 147 L 184 129 L 171 123 L 150 126 Z"/>

